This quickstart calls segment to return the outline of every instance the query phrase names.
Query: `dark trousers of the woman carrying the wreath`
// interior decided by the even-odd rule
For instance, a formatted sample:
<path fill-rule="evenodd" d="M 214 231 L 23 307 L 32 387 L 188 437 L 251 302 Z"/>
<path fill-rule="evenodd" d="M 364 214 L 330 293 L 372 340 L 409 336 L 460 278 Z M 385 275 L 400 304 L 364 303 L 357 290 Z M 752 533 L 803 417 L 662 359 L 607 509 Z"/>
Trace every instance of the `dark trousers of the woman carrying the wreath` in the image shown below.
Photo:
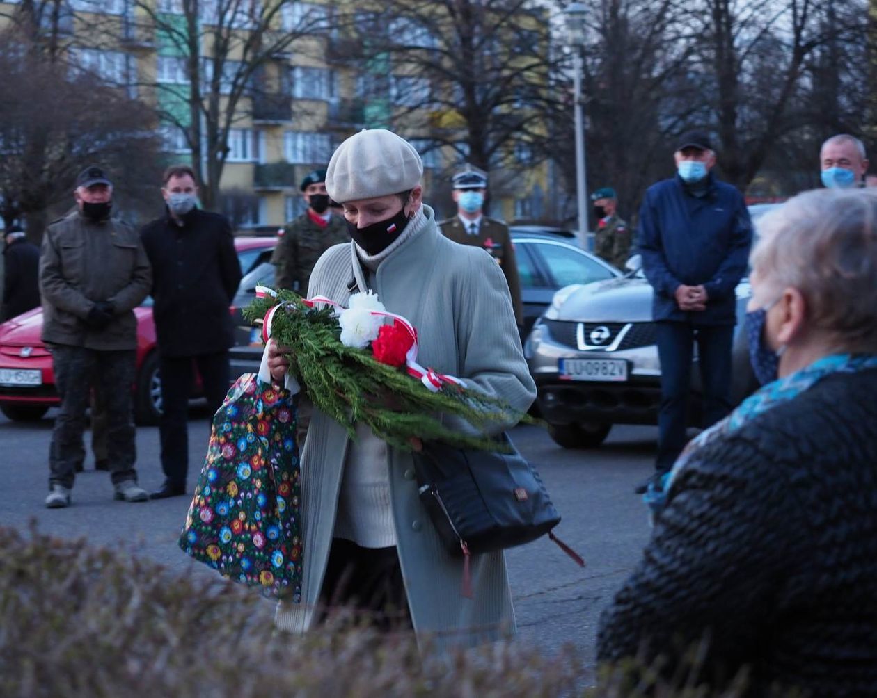
<path fill-rule="evenodd" d="M 332 539 L 320 606 L 320 622 L 333 609 L 352 609 L 357 620 L 380 631 L 410 630 L 413 626 L 396 547 L 360 547 L 350 540 Z"/>

